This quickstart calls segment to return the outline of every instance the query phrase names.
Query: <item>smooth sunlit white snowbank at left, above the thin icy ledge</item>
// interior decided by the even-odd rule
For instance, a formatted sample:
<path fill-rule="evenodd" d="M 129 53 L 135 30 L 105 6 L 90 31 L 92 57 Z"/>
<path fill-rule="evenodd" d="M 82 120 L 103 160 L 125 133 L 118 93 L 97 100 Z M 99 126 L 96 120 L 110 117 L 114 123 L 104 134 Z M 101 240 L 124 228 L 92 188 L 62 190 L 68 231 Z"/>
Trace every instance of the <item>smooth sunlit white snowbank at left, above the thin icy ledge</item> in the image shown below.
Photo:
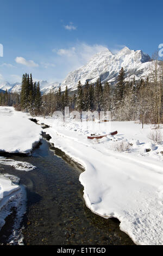
<path fill-rule="evenodd" d="M 28 120 L 26 113 L 0 107 L 0 120 L 0 151 L 29 154 L 41 139 L 41 126 Z"/>

